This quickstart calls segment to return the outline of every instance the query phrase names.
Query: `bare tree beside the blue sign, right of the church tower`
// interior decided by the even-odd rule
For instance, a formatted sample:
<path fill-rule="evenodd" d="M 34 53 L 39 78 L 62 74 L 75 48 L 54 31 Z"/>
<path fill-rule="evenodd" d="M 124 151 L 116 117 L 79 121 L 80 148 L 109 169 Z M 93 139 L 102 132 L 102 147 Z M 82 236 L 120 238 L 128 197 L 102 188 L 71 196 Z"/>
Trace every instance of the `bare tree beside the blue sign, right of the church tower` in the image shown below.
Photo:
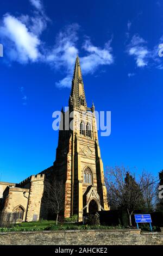
<path fill-rule="evenodd" d="M 143 193 L 149 191 L 152 185 L 145 182 L 146 174 L 139 179 L 124 166 L 106 167 L 106 187 L 108 190 L 109 205 L 114 209 L 125 209 L 131 226 L 131 215 L 135 210 L 142 209 L 145 205 Z"/>

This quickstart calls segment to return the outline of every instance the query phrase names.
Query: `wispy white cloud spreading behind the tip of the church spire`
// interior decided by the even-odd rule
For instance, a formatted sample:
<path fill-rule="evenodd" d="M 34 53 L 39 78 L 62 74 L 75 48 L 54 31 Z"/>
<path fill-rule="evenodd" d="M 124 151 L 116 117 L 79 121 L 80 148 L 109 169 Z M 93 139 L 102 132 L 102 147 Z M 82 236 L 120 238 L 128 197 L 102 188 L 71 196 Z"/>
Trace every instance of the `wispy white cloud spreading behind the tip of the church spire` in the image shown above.
<path fill-rule="evenodd" d="M 56 83 L 57 87 L 71 87 L 74 60 L 76 59 L 78 48 L 78 24 L 67 26 L 61 31 L 56 39 L 56 44 L 50 54 L 47 54 L 46 62 L 54 66 L 55 69 L 64 68 L 66 77 Z M 92 45 L 90 39 L 86 39 L 83 44 L 85 56 L 80 57 L 80 64 L 83 74 L 92 74 L 101 65 L 110 65 L 114 62 L 110 47 L 111 41 L 105 44 L 104 48 Z"/>

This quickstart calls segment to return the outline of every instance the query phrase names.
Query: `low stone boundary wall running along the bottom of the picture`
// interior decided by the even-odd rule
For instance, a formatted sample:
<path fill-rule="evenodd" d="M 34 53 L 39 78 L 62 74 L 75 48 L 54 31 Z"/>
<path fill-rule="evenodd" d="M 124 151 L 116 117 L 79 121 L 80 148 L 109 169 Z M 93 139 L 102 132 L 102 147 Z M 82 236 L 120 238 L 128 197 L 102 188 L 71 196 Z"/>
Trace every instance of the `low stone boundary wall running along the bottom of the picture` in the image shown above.
<path fill-rule="evenodd" d="M 163 245 L 163 233 L 66 230 L 0 233 L 0 245 Z"/>

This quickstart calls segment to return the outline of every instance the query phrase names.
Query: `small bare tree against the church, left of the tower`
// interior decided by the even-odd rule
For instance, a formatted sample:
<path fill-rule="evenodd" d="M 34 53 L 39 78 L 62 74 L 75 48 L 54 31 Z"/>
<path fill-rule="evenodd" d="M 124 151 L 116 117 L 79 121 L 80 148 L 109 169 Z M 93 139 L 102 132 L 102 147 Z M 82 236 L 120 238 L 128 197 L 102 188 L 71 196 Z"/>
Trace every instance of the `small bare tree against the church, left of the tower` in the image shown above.
<path fill-rule="evenodd" d="M 61 211 L 64 210 L 65 203 L 65 184 L 62 180 L 58 180 L 55 175 L 46 180 L 45 194 L 43 203 L 46 204 L 49 211 L 56 215 L 56 225 Z"/>

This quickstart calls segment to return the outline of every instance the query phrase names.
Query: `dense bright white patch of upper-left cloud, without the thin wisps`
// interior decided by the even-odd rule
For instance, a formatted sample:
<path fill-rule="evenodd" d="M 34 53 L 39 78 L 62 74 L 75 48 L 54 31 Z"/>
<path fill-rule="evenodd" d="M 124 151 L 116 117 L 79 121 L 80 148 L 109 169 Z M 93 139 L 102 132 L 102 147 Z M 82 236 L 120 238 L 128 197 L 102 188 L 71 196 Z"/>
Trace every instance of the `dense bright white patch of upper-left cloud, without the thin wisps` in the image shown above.
<path fill-rule="evenodd" d="M 8 44 L 8 56 L 20 63 L 32 62 L 39 58 L 40 40 L 20 20 L 5 15 L 0 27 L 0 36 Z"/>

